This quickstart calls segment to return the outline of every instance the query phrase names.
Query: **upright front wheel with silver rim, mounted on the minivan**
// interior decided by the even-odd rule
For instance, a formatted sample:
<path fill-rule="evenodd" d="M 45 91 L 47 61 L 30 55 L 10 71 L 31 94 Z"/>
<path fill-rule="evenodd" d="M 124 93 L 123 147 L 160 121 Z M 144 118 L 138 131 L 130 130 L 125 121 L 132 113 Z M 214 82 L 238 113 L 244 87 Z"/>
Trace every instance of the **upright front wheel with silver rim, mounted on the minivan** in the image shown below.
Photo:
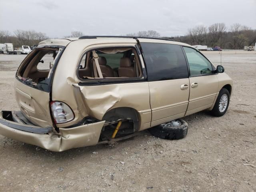
<path fill-rule="evenodd" d="M 211 111 L 212 115 L 217 117 L 224 115 L 228 110 L 229 100 L 230 100 L 230 94 L 228 90 L 226 90 L 225 88 L 222 88 L 219 92 L 219 95 L 216 99 L 214 107 Z"/>

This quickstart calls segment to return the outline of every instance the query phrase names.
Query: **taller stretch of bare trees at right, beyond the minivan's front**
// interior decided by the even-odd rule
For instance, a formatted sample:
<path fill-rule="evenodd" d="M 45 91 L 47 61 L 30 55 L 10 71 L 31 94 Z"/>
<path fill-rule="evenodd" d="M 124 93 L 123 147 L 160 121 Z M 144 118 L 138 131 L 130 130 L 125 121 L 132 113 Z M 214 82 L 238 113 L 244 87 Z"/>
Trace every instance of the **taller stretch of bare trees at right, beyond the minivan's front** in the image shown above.
<path fill-rule="evenodd" d="M 254 46 L 256 30 L 235 23 L 228 28 L 224 23 L 215 23 L 206 27 L 195 26 L 188 30 L 185 36 L 164 37 L 190 45 L 220 46 L 223 49 L 244 49 L 244 46 Z"/>

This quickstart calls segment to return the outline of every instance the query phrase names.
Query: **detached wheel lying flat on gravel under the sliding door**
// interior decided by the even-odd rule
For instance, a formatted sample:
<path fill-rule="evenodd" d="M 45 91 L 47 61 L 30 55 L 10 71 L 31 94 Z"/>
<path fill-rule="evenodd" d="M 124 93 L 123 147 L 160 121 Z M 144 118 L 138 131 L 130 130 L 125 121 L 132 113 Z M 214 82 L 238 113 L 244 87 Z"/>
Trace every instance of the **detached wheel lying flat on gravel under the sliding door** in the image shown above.
<path fill-rule="evenodd" d="M 188 133 L 188 123 L 182 119 L 170 121 L 149 129 L 149 132 L 162 139 L 181 139 Z"/>

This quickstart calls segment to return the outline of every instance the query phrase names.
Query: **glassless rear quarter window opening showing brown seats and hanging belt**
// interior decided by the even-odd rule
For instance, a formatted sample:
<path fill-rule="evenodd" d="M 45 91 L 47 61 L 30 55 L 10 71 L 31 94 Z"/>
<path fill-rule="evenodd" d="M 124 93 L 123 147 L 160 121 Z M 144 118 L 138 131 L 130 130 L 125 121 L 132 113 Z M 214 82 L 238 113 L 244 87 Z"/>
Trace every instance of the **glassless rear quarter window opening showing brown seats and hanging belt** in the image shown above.
<path fill-rule="evenodd" d="M 138 54 L 134 48 L 114 47 L 95 49 L 98 58 L 92 57 L 91 50 L 84 54 L 78 68 L 78 77 L 82 80 L 100 77 L 100 72 L 107 78 L 140 78 L 142 69 Z"/>

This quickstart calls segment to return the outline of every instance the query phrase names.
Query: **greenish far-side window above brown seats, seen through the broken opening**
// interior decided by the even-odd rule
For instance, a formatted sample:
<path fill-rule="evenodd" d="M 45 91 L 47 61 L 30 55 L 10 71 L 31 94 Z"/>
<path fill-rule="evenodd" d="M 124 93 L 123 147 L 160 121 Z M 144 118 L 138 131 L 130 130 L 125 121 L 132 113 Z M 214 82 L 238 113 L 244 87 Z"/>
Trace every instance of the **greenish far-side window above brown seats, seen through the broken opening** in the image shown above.
<path fill-rule="evenodd" d="M 107 60 L 108 66 L 111 68 L 118 68 L 120 66 L 120 59 L 124 56 L 124 53 L 107 54 L 100 51 L 96 51 L 99 57 L 104 57 Z"/>

